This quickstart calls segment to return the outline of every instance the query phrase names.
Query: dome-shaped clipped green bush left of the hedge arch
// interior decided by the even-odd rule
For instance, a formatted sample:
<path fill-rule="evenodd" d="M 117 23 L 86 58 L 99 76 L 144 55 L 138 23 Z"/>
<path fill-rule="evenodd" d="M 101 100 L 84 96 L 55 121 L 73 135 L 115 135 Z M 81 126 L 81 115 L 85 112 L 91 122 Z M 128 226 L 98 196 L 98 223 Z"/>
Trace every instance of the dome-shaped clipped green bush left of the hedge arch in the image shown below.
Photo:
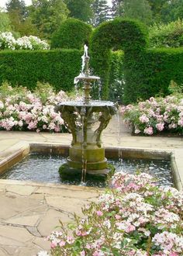
<path fill-rule="evenodd" d="M 52 48 L 78 49 L 88 42 L 91 26 L 78 19 L 67 19 L 61 23 L 51 40 Z"/>

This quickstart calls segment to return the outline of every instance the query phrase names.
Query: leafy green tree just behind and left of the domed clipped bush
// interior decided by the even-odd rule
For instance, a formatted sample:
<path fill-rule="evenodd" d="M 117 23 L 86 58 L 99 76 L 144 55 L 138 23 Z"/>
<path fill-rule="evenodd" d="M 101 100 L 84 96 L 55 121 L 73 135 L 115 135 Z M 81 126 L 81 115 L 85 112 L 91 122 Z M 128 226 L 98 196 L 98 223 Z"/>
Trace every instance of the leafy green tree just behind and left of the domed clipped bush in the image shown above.
<path fill-rule="evenodd" d="M 68 9 L 63 0 L 33 0 L 29 8 L 33 24 L 40 32 L 40 36 L 50 39 L 51 35 L 67 19 Z"/>

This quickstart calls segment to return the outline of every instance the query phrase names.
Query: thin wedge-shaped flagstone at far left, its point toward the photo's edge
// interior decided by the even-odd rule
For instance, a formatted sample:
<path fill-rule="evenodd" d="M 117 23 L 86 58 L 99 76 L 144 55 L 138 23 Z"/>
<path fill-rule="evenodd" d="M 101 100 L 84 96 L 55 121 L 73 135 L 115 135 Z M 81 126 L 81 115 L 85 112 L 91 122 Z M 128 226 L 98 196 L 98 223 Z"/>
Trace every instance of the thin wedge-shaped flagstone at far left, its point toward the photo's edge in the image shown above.
<path fill-rule="evenodd" d="M 38 223 L 38 220 L 40 220 L 40 215 L 16 216 L 8 220 L 5 220 L 4 223 L 16 224 L 16 225 L 22 225 L 22 226 L 36 226 L 36 223 Z"/>

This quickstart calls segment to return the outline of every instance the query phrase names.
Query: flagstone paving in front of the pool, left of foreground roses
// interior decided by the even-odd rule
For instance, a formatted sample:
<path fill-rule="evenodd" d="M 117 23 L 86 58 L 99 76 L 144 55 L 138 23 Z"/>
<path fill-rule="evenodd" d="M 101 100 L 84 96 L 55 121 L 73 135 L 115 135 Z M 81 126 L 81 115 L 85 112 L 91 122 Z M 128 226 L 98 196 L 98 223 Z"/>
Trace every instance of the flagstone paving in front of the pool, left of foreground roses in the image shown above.
<path fill-rule="evenodd" d="M 39 185 L 2 181 L 0 184 L 0 256 L 33 256 L 49 250 L 45 237 L 59 220 L 71 223 L 73 213 L 95 201 L 98 192 L 79 186 Z"/>

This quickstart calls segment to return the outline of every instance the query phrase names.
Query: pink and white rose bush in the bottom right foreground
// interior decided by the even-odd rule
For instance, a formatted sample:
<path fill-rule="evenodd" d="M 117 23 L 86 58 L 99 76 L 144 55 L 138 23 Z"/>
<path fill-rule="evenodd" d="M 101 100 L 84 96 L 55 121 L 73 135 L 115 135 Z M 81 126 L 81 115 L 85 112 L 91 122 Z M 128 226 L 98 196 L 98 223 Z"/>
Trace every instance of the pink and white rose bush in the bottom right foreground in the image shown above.
<path fill-rule="evenodd" d="M 181 256 L 182 202 L 181 192 L 157 187 L 148 174 L 116 173 L 111 189 L 82 209 L 84 217 L 75 215 L 74 223 L 61 223 L 60 230 L 47 237 L 50 254 Z"/>

